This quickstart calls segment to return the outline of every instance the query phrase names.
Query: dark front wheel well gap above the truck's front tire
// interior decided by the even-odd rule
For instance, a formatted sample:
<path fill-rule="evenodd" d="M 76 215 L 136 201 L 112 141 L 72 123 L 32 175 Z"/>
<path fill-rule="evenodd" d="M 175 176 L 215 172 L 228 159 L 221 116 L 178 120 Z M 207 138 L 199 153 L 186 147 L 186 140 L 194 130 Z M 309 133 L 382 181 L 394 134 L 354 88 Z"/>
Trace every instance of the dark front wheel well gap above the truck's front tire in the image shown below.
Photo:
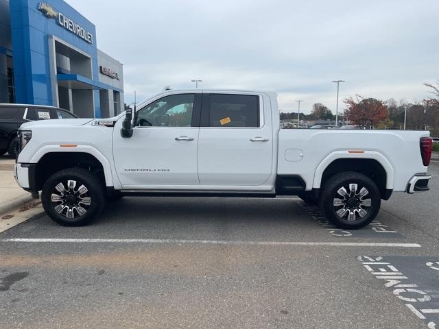
<path fill-rule="evenodd" d="M 82 152 L 54 152 L 45 154 L 36 164 L 36 191 L 43 189 L 47 178 L 53 173 L 67 168 L 87 169 L 95 173 L 105 186 L 104 167 L 94 156 Z"/>

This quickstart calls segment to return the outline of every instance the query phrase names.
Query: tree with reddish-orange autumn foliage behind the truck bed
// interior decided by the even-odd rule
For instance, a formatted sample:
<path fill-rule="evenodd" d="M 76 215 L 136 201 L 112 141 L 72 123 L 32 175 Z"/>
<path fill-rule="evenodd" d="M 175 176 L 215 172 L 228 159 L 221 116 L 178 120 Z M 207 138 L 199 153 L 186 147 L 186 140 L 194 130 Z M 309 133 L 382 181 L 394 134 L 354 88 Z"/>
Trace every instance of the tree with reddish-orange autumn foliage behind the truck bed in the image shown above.
<path fill-rule="evenodd" d="M 372 127 L 388 118 L 388 110 L 384 101 L 375 98 L 364 98 L 359 95 L 344 99 L 346 117 L 361 127 Z"/>

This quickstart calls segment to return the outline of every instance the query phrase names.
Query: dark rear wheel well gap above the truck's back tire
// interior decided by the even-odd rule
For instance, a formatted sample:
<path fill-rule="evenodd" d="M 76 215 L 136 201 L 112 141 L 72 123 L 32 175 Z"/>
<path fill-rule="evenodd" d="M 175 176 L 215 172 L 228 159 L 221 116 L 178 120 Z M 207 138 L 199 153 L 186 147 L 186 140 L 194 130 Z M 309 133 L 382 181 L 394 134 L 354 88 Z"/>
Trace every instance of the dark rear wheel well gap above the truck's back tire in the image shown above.
<path fill-rule="evenodd" d="M 320 188 L 323 188 L 325 182 L 329 177 L 335 173 L 341 173 L 342 171 L 355 171 L 362 173 L 377 184 L 381 197 L 386 198 L 388 191 L 386 190 L 387 173 L 384 167 L 377 160 L 374 159 L 337 159 L 331 162 L 327 169 L 324 169 L 322 175 L 322 183 Z M 389 195 L 390 197 L 390 195 Z"/>

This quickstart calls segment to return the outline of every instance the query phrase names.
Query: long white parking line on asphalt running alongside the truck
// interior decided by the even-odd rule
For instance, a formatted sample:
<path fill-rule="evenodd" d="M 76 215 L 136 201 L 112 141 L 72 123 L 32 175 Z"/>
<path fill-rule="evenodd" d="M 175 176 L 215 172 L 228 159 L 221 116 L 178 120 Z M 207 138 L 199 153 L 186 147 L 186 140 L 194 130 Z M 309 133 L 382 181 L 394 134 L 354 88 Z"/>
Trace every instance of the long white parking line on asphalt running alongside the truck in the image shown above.
<path fill-rule="evenodd" d="M 375 242 L 294 242 L 294 241 L 222 241 L 222 240 L 175 240 L 175 239 L 0 239 L 1 242 L 20 243 L 169 243 L 200 245 L 302 245 L 331 247 L 420 247 L 418 243 Z"/>

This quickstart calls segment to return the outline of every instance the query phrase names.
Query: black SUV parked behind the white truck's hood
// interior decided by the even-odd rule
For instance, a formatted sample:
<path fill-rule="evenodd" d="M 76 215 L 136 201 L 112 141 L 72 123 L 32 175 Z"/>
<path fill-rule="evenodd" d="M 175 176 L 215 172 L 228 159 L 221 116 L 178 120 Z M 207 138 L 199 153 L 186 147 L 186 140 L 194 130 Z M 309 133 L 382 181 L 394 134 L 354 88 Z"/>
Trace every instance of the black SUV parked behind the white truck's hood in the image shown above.
<path fill-rule="evenodd" d="M 0 104 L 0 156 L 8 151 L 16 156 L 16 132 L 28 121 L 45 119 L 75 119 L 75 114 L 53 106 Z"/>

